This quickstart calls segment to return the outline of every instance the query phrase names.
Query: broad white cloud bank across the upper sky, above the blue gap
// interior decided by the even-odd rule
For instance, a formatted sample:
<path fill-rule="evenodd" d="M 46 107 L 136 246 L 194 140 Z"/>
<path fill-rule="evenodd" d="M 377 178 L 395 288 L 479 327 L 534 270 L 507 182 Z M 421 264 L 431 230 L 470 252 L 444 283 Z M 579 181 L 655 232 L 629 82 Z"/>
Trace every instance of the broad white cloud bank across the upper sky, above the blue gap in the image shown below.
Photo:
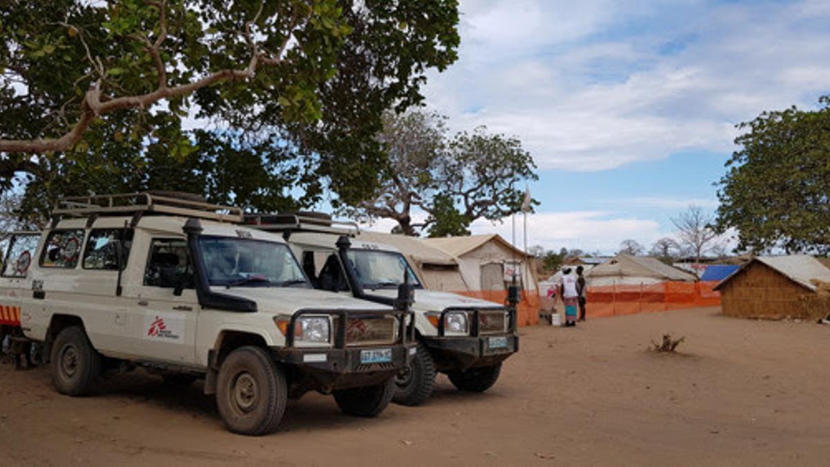
<path fill-rule="evenodd" d="M 812 106 L 830 79 L 827 2 L 484 5 L 461 3 L 461 58 L 427 101 L 520 136 L 543 170 L 729 153 L 736 123 Z"/>

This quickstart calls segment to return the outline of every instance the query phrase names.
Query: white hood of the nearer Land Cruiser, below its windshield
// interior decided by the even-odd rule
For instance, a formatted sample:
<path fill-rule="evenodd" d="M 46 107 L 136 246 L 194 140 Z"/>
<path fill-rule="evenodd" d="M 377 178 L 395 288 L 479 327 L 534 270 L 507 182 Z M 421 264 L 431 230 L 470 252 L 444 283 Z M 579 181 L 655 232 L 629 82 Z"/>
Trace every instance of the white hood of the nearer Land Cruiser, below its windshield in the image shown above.
<path fill-rule="evenodd" d="M 380 303 L 359 300 L 345 294 L 325 292 L 314 288 L 212 287 L 211 290 L 253 300 L 261 312 L 287 312 L 293 314 L 303 308 L 332 310 L 388 310 L 391 308 Z"/>

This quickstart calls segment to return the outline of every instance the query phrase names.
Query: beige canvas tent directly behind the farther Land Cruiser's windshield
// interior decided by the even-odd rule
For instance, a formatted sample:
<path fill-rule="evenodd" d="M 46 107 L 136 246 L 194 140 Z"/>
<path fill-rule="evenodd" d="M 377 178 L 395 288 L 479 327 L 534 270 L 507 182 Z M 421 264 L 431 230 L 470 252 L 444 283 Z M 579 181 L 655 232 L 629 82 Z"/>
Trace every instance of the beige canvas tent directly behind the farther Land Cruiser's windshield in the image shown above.
<path fill-rule="evenodd" d="M 426 288 L 447 292 L 470 289 L 461 275 L 456 258 L 428 245 L 422 238 L 370 231 L 360 232 L 357 238 L 398 248 L 417 269 L 416 273 Z"/>

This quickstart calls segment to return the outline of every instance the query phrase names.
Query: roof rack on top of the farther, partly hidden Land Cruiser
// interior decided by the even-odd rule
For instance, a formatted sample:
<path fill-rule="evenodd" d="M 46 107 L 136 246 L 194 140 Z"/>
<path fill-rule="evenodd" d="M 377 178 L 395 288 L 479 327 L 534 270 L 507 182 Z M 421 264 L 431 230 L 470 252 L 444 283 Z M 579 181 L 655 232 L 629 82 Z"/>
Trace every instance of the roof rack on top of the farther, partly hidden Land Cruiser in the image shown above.
<path fill-rule="evenodd" d="M 320 234 L 357 235 L 357 223 L 334 220 L 329 214 L 316 212 L 245 214 L 244 224 L 268 232 L 315 232 Z"/>

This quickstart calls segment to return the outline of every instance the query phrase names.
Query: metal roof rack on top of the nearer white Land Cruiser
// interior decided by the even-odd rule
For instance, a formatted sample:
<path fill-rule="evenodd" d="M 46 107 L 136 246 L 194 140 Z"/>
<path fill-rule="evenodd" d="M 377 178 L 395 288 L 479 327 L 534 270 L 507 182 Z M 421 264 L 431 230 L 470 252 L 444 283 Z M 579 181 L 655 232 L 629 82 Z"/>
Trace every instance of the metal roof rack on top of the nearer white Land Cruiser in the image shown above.
<path fill-rule="evenodd" d="M 171 214 L 200 219 L 242 222 L 241 208 L 209 204 L 198 195 L 173 192 L 67 196 L 58 199 L 55 209 L 52 210 L 52 214 L 56 216 L 74 217 L 138 213 Z"/>

